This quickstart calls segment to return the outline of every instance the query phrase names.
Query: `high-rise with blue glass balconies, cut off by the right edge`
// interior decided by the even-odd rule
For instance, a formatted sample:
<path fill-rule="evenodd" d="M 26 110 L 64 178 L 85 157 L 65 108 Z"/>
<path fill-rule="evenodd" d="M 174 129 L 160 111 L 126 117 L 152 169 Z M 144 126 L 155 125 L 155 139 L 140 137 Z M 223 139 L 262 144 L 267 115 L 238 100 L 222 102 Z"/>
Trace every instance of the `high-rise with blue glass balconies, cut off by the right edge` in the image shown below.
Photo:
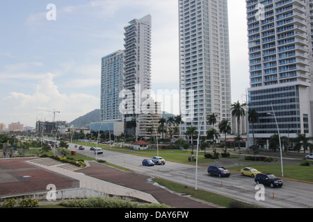
<path fill-rule="evenodd" d="M 278 128 L 289 138 L 312 135 L 312 1 L 247 0 L 246 6 L 255 137 L 266 145 Z"/>

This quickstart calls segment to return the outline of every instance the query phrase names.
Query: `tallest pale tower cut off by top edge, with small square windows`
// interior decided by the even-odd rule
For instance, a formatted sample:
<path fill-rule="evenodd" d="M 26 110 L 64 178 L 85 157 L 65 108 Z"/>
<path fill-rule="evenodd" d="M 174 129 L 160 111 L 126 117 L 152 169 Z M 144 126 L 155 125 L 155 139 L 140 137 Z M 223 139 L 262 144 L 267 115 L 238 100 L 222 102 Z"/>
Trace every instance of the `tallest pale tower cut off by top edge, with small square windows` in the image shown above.
<path fill-rule="evenodd" d="M 217 115 L 216 126 L 231 121 L 227 0 L 179 1 L 179 56 L 182 134 L 194 126 L 206 135 L 207 115 Z"/>

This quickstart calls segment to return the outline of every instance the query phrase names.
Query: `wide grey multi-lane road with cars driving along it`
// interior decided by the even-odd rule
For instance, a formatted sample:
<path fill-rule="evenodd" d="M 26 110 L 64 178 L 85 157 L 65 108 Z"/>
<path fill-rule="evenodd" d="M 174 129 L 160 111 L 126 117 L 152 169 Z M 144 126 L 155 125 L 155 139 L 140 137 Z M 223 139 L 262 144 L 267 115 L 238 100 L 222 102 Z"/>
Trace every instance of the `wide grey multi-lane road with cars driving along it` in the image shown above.
<path fill-rule="evenodd" d="M 70 150 L 83 155 L 95 157 L 88 146 L 78 151 L 70 144 Z M 98 160 L 106 160 L 120 167 L 125 167 L 145 176 L 163 178 L 172 182 L 179 182 L 188 187 L 195 187 L 195 166 L 167 161 L 165 165 L 144 167 L 141 165 L 144 157 L 104 150 L 103 155 L 97 155 Z M 256 200 L 259 189 L 253 178 L 241 176 L 238 172 L 231 172 L 229 178 L 209 176 L 207 167 L 198 167 L 198 189 L 211 191 L 216 194 L 241 200 L 246 203 L 266 208 L 308 208 L 313 207 L 313 184 L 284 179 L 282 188 L 264 187 L 265 200 Z"/>

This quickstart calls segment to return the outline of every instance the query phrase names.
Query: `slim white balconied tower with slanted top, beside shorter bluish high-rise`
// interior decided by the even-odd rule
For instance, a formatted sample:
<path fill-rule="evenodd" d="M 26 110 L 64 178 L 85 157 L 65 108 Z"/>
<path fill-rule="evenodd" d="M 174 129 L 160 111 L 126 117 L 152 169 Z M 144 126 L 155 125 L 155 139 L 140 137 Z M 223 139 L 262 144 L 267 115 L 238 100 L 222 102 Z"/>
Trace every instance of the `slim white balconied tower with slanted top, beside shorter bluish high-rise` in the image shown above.
<path fill-rule="evenodd" d="M 151 89 L 151 15 L 133 19 L 125 29 L 123 89 L 133 94 L 126 117 L 140 114 L 141 94 Z M 136 94 L 135 94 L 136 93 Z M 143 96 L 145 97 L 145 96 Z"/>

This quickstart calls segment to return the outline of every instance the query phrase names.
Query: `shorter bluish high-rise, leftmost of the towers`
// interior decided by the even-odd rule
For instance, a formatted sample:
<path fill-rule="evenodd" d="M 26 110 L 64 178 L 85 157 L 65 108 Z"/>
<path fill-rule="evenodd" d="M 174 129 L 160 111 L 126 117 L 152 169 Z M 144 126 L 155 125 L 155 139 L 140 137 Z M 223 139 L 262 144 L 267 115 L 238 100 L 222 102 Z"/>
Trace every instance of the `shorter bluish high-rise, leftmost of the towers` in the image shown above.
<path fill-rule="evenodd" d="M 100 121 L 122 121 L 123 54 L 120 50 L 102 58 Z"/>

